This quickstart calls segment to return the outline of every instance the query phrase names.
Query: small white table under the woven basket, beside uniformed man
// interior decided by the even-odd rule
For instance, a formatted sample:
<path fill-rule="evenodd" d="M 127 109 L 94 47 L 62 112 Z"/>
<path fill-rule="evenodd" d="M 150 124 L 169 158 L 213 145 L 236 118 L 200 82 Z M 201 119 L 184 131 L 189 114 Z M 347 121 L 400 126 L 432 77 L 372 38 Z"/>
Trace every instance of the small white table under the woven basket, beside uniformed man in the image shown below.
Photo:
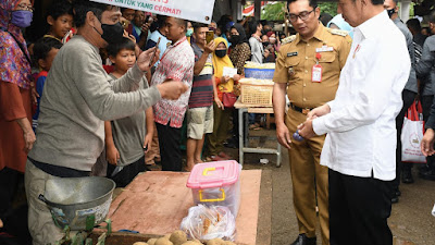
<path fill-rule="evenodd" d="M 244 164 L 244 154 L 273 154 L 276 155 L 276 167 L 281 167 L 281 144 L 278 143 L 276 148 L 249 148 L 245 147 L 245 143 L 248 140 L 248 122 L 244 117 L 244 113 L 262 113 L 262 114 L 272 114 L 273 107 L 271 106 L 259 106 L 259 105 L 246 105 L 240 101 L 240 98 L 234 103 L 234 107 L 238 109 L 238 154 L 239 154 L 239 163 Z M 246 133 L 245 133 L 246 132 Z"/>

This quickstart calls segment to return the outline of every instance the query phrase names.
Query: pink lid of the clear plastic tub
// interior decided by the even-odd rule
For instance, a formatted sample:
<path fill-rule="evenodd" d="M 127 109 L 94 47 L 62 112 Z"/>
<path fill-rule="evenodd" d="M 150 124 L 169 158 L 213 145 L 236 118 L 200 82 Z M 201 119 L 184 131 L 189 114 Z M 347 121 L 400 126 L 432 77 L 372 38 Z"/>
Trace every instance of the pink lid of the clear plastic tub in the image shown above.
<path fill-rule="evenodd" d="M 213 161 L 194 167 L 187 180 L 189 188 L 214 188 L 232 185 L 238 181 L 240 167 L 237 161 Z"/>

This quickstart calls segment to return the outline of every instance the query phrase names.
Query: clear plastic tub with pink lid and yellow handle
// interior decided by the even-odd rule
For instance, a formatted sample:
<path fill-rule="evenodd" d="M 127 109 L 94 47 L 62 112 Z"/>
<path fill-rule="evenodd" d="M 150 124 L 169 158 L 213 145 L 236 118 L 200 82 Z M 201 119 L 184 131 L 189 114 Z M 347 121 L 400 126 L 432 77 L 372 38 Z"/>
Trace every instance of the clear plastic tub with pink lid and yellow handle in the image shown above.
<path fill-rule="evenodd" d="M 196 164 L 187 180 L 195 205 L 225 206 L 237 217 L 240 205 L 240 170 L 237 161 Z"/>

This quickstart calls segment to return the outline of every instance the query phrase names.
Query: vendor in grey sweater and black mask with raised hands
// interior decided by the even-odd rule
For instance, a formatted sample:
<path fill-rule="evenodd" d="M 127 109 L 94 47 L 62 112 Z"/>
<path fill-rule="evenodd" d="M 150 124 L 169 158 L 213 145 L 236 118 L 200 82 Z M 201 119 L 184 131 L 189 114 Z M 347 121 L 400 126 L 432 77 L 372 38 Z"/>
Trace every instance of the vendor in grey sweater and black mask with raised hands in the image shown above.
<path fill-rule="evenodd" d="M 161 98 L 177 99 L 187 86 L 169 81 L 148 89 L 138 87 L 157 61 L 154 49 L 142 52 L 121 78 L 102 69 L 99 49 L 122 40 L 117 7 L 76 0 L 77 35 L 57 54 L 44 90 L 37 142 L 28 154 L 25 187 L 28 226 L 34 244 L 54 244 L 62 230 L 52 221 L 46 204 L 38 200 L 47 180 L 88 176 L 104 146 L 104 121 L 132 115 Z M 135 91 L 130 91 L 135 90 Z"/>

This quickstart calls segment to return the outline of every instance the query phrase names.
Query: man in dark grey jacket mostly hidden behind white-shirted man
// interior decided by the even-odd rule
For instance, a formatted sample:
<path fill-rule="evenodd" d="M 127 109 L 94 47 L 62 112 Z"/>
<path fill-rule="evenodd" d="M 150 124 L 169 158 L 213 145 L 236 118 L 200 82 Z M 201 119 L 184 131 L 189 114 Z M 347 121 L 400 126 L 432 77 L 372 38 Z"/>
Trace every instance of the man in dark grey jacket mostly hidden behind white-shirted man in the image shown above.
<path fill-rule="evenodd" d="M 400 113 L 396 118 L 396 128 L 397 128 L 397 148 L 396 148 L 396 179 L 393 182 L 394 192 L 391 195 L 391 203 L 398 203 L 400 191 L 400 173 L 401 170 L 403 171 L 403 183 L 412 183 L 413 179 L 411 175 L 411 166 L 410 163 L 402 163 L 401 162 L 401 127 L 403 125 L 405 113 L 407 112 L 408 108 L 412 105 L 415 99 L 415 96 L 419 91 L 417 85 L 417 76 L 415 76 L 415 52 L 414 46 L 412 44 L 412 34 L 409 32 L 408 27 L 398 16 L 397 7 L 398 0 L 385 0 L 384 8 L 387 10 L 389 19 L 396 24 L 396 26 L 400 29 L 400 32 L 405 35 L 408 46 L 409 57 L 411 59 L 411 72 L 409 74 L 408 83 L 405 85 L 405 89 L 401 94 L 403 100 L 403 107 Z"/>

